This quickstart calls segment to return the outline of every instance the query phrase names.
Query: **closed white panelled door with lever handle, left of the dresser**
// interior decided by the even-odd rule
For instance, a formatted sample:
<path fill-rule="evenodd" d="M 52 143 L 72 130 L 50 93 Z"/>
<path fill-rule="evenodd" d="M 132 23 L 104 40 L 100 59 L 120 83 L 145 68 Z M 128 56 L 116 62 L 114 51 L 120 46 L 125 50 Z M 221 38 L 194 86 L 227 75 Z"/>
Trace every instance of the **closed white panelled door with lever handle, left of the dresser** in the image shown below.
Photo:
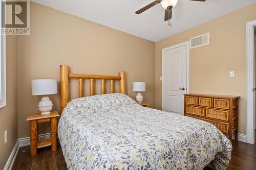
<path fill-rule="evenodd" d="M 188 44 L 163 50 L 162 106 L 167 112 L 184 115 L 184 96 L 187 92 Z"/>

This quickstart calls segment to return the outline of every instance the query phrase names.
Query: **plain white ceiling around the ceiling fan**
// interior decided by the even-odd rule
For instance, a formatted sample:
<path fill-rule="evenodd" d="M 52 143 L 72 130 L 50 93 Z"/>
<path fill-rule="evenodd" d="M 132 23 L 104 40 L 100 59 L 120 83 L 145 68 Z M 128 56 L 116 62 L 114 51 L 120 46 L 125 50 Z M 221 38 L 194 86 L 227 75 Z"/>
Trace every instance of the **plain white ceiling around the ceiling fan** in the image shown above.
<path fill-rule="evenodd" d="M 147 40 L 159 41 L 225 15 L 256 0 L 179 0 L 173 9 L 173 27 L 164 21 L 161 4 L 141 13 L 135 11 L 154 0 L 31 0 Z"/>

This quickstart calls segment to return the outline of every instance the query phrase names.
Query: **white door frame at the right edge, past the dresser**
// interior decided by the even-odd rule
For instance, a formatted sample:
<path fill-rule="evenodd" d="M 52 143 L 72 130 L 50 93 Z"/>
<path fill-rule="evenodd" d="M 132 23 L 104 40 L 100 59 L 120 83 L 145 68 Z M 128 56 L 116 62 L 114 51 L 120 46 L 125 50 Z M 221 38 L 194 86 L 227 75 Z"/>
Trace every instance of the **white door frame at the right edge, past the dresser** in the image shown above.
<path fill-rule="evenodd" d="M 254 144 L 254 26 L 256 19 L 246 22 L 246 142 Z"/>

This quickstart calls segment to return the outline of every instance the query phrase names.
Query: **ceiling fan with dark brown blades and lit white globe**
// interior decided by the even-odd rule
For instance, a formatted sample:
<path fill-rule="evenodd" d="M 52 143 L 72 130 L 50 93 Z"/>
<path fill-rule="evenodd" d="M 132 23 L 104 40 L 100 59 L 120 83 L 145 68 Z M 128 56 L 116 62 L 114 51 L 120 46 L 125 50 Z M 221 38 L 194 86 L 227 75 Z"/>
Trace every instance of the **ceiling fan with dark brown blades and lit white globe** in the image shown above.
<path fill-rule="evenodd" d="M 155 5 L 161 3 L 162 7 L 164 8 L 165 12 L 164 12 L 164 20 L 168 20 L 168 25 L 170 27 L 172 27 L 172 23 L 170 21 L 170 19 L 172 19 L 172 11 L 173 8 L 177 5 L 179 0 L 156 0 L 155 2 L 148 4 L 147 6 L 139 9 L 138 11 L 136 11 L 136 14 L 141 14 L 142 12 L 154 7 Z M 205 2 L 206 0 L 190 0 L 190 1 L 201 1 L 201 2 Z"/>

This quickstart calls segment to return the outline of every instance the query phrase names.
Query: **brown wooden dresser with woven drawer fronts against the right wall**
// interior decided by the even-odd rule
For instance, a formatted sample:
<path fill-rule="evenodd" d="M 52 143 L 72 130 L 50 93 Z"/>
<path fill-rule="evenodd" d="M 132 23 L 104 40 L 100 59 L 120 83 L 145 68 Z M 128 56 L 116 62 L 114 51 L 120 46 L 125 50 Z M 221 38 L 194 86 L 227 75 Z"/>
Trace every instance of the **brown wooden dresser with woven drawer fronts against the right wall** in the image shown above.
<path fill-rule="evenodd" d="M 239 99 L 232 95 L 184 94 L 184 113 L 215 125 L 231 141 L 235 132 L 237 140 Z"/>

